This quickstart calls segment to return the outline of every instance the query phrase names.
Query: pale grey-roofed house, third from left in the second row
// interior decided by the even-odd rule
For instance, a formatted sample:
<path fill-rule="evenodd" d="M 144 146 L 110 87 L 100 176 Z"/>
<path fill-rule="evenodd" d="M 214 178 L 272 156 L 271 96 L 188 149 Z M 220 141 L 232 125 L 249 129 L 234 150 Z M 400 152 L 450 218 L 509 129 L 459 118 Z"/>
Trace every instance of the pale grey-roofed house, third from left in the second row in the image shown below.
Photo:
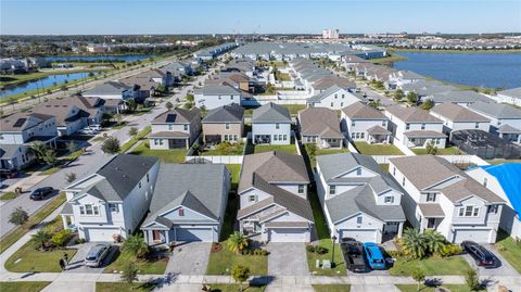
<path fill-rule="evenodd" d="M 276 103 L 267 103 L 253 111 L 252 140 L 254 144 L 290 144 L 290 111 Z"/>

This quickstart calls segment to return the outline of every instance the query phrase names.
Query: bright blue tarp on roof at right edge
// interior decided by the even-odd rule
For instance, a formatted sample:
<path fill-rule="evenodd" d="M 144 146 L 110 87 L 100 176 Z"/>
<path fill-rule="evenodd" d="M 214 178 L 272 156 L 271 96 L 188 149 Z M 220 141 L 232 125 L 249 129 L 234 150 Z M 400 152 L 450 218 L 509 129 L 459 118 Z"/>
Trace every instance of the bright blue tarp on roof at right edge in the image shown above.
<path fill-rule="evenodd" d="M 496 177 L 516 213 L 521 218 L 521 163 L 480 166 Z"/>

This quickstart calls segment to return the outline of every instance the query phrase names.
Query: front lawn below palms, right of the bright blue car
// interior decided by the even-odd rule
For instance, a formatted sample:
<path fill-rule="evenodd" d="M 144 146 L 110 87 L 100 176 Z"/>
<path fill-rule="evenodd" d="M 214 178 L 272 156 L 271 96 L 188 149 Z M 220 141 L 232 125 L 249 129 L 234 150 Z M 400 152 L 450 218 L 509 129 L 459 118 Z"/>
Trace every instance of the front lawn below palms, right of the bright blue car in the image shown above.
<path fill-rule="evenodd" d="M 422 268 L 427 276 L 443 276 L 465 275 L 470 266 L 463 257 L 457 255 L 444 258 L 432 256 L 419 261 L 398 258 L 394 262 L 394 266 L 389 269 L 389 274 L 392 276 L 410 276 L 418 268 Z"/>

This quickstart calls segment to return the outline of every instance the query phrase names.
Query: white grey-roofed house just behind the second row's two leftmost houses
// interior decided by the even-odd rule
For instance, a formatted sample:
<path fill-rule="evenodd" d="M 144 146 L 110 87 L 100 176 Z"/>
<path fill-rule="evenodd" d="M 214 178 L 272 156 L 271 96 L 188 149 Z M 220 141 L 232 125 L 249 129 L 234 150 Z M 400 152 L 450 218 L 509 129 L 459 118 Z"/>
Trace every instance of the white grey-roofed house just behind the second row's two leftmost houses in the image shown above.
<path fill-rule="evenodd" d="M 206 82 L 203 88 L 194 90 L 196 107 L 214 110 L 231 103 L 241 104 L 242 91 L 227 82 Z"/>

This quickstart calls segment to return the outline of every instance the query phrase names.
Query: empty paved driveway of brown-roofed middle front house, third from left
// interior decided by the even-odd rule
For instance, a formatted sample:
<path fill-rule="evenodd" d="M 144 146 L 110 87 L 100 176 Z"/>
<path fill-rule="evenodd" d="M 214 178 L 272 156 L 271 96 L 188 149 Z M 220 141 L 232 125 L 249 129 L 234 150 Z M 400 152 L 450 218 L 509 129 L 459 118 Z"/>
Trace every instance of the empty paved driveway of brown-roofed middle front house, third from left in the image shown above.
<path fill-rule="evenodd" d="M 306 245 L 295 242 L 270 242 L 266 245 L 268 275 L 308 276 Z"/>

